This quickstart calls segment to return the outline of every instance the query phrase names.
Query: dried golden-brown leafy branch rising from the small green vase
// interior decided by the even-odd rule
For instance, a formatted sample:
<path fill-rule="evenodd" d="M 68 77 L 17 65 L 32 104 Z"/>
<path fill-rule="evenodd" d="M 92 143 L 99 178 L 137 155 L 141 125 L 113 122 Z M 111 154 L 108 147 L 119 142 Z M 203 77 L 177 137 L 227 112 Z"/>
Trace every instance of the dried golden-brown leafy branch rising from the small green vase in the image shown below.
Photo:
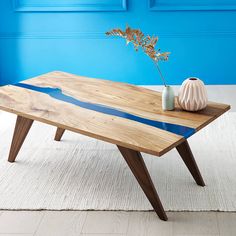
<path fill-rule="evenodd" d="M 169 57 L 169 52 L 161 52 L 160 49 L 155 49 L 155 46 L 158 41 L 158 37 L 147 35 L 145 36 L 143 32 L 139 29 L 131 29 L 129 26 L 126 27 L 125 31 L 121 29 L 113 29 L 109 32 L 106 32 L 108 36 L 119 36 L 121 38 L 126 39 L 126 43 L 132 43 L 134 45 L 135 51 L 138 51 L 139 48 L 143 50 L 143 52 L 148 55 L 160 73 L 161 79 L 166 86 L 165 79 L 161 73 L 158 62 L 159 61 L 167 61 Z"/>

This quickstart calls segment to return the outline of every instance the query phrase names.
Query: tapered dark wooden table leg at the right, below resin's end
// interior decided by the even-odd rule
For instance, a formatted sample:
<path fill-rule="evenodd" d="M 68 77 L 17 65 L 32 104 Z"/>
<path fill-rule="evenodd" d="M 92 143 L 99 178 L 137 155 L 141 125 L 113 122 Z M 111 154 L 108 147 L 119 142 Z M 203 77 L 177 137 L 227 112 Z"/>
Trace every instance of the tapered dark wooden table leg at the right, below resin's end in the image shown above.
<path fill-rule="evenodd" d="M 189 147 L 188 141 L 184 141 L 180 145 L 176 147 L 177 151 L 179 152 L 180 156 L 182 157 L 185 165 L 189 169 L 190 173 L 192 174 L 193 178 L 195 179 L 196 183 L 200 186 L 205 186 L 204 180 L 201 176 L 201 173 L 198 169 L 197 163 L 194 159 L 193 153 Z"/>

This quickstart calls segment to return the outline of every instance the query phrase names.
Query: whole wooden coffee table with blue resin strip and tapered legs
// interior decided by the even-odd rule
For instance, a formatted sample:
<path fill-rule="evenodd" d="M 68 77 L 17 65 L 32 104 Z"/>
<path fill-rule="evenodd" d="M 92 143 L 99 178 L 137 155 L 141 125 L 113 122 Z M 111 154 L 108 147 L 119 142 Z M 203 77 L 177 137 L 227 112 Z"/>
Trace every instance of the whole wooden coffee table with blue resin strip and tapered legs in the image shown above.
<path fill-rule="evenodd" d="M 176 103 L 163 111 L 161 94 L 134 85 L 55 71 L 0 88 L 0 109 L 17 115 L 8 160 L 14 162 L 34 120 L 118 146 L 141 188 L 162 220 L 166 213 L 140 152 L 162 156 L 176 148 L 196 183 L 204 186 L 187 138 L 230 109 L 209 102 L 200 112 Z"/>

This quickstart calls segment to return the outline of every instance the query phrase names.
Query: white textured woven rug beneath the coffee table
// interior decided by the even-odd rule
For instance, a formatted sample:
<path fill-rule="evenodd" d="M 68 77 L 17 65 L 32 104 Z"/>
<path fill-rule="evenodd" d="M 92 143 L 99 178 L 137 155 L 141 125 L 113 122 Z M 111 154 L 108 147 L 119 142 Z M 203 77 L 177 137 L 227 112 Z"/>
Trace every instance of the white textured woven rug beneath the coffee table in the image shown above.
<path fill-rule="evenodd" d="M 152 210 L 114 145 L 35 122 L 7 162 L 15 116 L 0 113 L 0 209 Z M 236 113 L 189 139 L 207 184 L 195 184 L 175 150 L 143 155 L 166 210 L 236 211 Z"/>

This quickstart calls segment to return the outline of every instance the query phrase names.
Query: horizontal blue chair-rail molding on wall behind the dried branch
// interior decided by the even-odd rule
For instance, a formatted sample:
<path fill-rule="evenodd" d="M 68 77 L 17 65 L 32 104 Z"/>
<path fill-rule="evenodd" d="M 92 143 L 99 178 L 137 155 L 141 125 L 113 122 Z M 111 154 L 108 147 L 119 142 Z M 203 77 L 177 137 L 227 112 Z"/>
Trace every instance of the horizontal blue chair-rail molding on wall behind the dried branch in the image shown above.
<path fill-rule="evenodd" d="M 159 38 L 232 38 L 236 37 L 236 31 L 201 31 L 188 33 L 158 33 Z M 112 39 L 119 40 L 116 37 L 107 37 L 104 32 L 34 32 L 34 33 L 0 33 L 0 39 Z"/>

